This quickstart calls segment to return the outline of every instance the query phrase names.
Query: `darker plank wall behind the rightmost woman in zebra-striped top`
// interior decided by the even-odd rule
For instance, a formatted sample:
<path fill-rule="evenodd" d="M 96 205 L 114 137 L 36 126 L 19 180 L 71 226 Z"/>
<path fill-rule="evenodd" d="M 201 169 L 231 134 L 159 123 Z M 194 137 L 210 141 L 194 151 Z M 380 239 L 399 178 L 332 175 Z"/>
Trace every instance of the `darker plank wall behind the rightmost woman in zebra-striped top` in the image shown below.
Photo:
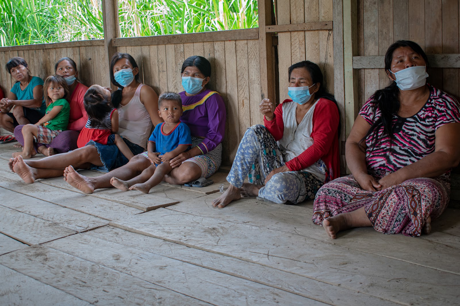
<path fill-rule="evenodd" d="M 459 0 L 357 0 L 359 56 L 385 55 L 396 40 L 413 40 L 426 54 L 459 53 Z M 460 97 L 460 68 L 428 69 L 428 82 Z M 359 104 L 389 84 L 384 69 L 359 69 Z"/>

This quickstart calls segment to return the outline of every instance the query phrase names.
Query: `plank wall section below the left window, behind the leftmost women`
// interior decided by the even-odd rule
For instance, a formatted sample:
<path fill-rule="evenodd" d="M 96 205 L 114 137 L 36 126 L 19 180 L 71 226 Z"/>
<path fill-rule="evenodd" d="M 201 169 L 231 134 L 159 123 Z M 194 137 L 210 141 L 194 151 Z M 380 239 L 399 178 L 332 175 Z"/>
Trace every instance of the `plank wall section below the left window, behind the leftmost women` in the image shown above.
<path fill-rule="evenodd" d="M 0 49 L 0 87 L 5 92 L 11 90 L 14 79 L 5 69 L 5 64 L 11 57 L 23 57 L 29 64 L 30 73 L 42 79 L 54 74 L 54 65 L 62 57 L 70 57 L 77 64 L 79 79 L 87 86 L 100 84 L 109 86 L 109 63 L 104 60 L 104 45 L 66 46 L 58 48 L 33 49 L 27 46 L 25 50 L 3 51 Z M 75 44 L 73 44 L 75 45 Z M 18 49 L 12 47 L 11 49 Z"/>

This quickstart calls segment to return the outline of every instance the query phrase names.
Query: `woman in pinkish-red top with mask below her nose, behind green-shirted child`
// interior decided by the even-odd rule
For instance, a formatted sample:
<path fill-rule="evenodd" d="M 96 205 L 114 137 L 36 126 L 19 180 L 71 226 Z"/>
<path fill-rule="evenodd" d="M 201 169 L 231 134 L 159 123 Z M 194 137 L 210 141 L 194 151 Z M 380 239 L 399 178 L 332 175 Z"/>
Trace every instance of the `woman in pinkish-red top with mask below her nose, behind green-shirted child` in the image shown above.
<path fill-rule="evenodd" d="M 68 99 L 70 104 L 70 118 L 68 130 L 61 132 L 50 144 L 35 143 L 35 150 L 46 156 L 55 153 L 65 153 L 77 148 L 77 139 L 81 129 L 86 124 L 88 116 L 83 107 L 83 96 L 88 87 L 81 84 L 78 78 L 77 66 L 70 57 L 63 57 L 54 65 L 54 70 L 57 75 L 62 76 L 69 86 L 71 95 Z M 14 129 L 14 136 L 19 143 L 23 143 L 22 130 L 23 125 L 18 125 Z M 43 146 L 43 148 L 42 148 Z"/>

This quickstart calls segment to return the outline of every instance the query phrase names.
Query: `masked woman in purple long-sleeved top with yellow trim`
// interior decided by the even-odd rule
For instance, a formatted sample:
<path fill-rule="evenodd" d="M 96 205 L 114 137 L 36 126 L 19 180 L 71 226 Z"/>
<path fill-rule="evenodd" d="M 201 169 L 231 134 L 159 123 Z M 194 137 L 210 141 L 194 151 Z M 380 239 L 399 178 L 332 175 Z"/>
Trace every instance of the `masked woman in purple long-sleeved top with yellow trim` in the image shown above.
<path fill-rule="evenodd" d="M 227 117 L 222 97 L 206 88 L 211 76 L 211 64 L 206 58 L 187 58 L 182 65 L 181 74 L 185 89 L 180 93 L 184 110 L 181 121 L 190 128 L 193 147 L 171 159 L 173 170 L 165 176 L 165 181 L 174 185 L 183 185 L 201 177 L 207 178 L 219 169 Z M 69 166 L 64 170 L 64 179 L 82 192 L 92 193 L 98 188 L 113 187 L 110 179 L 116 177 L 125 181 L 122 186 L 117 184 L 117 188 L 128 190 L 130 185 L 137 183 L 132 178 L 151 164 L 147 154 L 141 153 L 126 165 L 98 177 L 81 176 Z"/>

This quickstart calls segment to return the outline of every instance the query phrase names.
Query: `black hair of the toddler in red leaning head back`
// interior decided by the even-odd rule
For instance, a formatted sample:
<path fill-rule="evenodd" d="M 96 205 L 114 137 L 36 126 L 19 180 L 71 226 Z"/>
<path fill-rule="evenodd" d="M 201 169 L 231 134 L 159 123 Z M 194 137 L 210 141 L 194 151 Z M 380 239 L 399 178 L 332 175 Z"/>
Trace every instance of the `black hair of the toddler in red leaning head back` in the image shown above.
<path fill-rule="evenodd" d="M 98 87 L 91 86 L 83 96 L 83 106 L 88 118 L 91 119 L 91 127 L 110 127 L 105 123 L 105 115 L 112 109 L 110 96 L 98 91 Z"/>

